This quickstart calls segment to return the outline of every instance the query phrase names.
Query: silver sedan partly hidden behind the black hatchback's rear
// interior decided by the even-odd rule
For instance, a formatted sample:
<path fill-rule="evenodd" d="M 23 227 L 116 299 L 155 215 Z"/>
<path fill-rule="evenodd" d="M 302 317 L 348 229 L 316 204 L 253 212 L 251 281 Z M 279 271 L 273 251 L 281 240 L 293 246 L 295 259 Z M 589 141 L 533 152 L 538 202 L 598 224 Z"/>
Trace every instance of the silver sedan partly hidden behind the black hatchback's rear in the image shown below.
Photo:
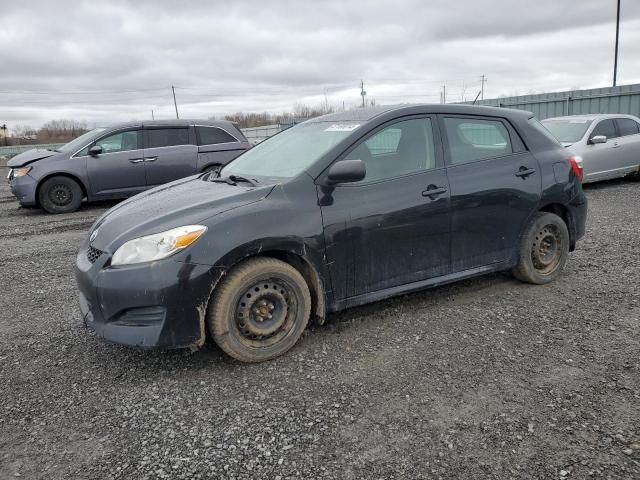
<path fill-rule="evenodd" d="M 547 118 L 542 124 L 582 158 L 583 183 L 633 175 L 640 180 L 640 119 L 590 114 Z"/>

